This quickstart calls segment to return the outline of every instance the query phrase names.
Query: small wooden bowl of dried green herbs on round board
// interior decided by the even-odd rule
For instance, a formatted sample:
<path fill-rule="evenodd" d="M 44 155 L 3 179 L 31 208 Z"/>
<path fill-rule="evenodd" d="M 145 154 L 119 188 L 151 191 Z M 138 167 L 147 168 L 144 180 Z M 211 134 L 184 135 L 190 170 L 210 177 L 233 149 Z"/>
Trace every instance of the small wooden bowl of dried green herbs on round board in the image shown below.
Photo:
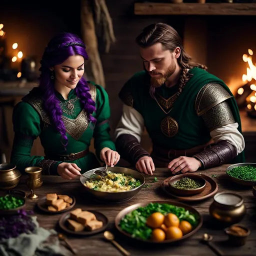
<path fill-rule="evenodd" d="M 202 192 L 206 180 L 197 174 L 184 173 L 170 177 L 169 189 L 176 195 L 189 196 Z"/>

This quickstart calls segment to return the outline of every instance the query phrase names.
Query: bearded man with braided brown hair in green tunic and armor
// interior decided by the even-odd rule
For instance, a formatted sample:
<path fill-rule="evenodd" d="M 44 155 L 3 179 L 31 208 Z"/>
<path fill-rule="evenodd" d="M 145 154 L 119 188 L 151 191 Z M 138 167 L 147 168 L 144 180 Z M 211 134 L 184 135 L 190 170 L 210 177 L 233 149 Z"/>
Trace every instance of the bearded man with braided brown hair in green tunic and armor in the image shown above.
<path fill-rule="evenodd" d="M 218 77 L 194 63 L 171 26 L 151 24 L 137 36 L 144 71 L 122 87 L 123 113 L 115 130 L 122 158 L 152 175 L 244 161 L 244 139 L 235 99 Z M 151 155 L 139 144 L 146 128 Z"/>

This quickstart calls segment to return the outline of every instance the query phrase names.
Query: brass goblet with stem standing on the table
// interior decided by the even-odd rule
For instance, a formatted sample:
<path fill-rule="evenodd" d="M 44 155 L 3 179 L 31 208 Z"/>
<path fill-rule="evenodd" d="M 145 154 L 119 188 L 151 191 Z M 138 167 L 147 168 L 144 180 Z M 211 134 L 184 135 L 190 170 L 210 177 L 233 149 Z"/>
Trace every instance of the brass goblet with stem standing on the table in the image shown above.
<path fill-rule="evenodd" d="M 26 185 L 31 189 L 31 193 L 27 196 L 27 198 L 34 199 L 38 197 L 38 195 L 36 195 L 33 190 L 42 185 L 41 171 L 42 168 L 37 166 L 29 166 L 25 168 L 25 172 L 28 173 Z"/>

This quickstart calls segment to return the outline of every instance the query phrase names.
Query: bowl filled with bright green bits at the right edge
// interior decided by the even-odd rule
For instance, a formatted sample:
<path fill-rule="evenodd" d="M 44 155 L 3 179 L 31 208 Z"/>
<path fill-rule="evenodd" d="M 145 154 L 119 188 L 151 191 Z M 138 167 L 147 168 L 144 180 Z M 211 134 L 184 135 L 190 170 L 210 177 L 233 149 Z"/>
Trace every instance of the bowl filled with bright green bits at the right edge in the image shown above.
<path fill-rule="evenodd" d="M 256 183 L 256 163 L 242 162 L 232 164 L 227 167 L 226 174 L 238 184 L 252 186 Z"/>

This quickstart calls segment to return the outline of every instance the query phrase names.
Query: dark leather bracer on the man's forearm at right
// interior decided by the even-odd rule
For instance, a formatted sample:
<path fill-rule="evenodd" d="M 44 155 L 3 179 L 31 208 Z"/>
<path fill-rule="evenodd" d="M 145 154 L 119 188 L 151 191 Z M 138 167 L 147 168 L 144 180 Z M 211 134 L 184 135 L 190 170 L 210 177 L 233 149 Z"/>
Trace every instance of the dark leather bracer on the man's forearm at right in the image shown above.
<path fill-rule="evenodd" d="M 235 156 L 235 147 L 226 140 L 221 140 L 212 145 L 210 148 L 193 155 L 194 158 L 202 163 L 203 169 L 214 167 L 223 163 L 228 163 Z"/>

